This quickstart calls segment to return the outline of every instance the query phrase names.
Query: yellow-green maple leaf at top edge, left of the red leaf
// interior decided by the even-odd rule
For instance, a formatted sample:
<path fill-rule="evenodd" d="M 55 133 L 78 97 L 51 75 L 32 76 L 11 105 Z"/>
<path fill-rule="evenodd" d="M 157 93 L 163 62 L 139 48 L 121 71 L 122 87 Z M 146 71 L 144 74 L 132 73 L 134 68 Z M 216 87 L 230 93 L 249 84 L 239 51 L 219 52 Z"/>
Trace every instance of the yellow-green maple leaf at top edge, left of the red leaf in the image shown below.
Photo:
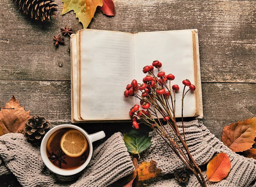
<path fill-rule="evenodd" d="M 91 19 L 94 17 L 97 6 L 102 6 L 102 0 L 62 0 L 62 13 L 66 14 L 74 11 L 76 18 L 82 22 L 83 27 L 87 28 Z"/>

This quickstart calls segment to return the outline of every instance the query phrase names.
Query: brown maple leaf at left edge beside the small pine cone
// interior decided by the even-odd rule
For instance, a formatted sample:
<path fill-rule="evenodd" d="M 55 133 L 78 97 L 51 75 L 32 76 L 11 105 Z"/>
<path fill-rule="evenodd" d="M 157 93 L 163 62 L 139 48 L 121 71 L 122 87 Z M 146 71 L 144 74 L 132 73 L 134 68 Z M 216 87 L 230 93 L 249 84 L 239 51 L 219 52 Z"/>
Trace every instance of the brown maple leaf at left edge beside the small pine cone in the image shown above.
<path fill-rule="evenodd" d="M 14 108 L 14 109 L 5 109 Z M 30 110 L 25 111 L 24 106 L 21 107 L 14 96 L 5 107 L 0 111 L 0 125 L 3 128 L 3 134 L 7 133 L 23 133 L 24 125 L 30 116 Z"/>

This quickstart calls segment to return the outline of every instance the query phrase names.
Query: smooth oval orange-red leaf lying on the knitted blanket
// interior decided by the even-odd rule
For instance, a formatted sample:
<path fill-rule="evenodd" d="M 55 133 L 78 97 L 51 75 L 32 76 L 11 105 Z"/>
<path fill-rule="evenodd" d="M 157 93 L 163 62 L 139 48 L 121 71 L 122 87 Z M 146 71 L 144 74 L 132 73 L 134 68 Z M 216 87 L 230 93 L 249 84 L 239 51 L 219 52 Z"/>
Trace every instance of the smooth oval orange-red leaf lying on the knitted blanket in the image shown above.
<path fill-rule="evenodd" d="M 226 153 L 219 153 L 207 165 L 207 178 L 209 181 L 223 180 L 230 171 L 231 163 Z"/>

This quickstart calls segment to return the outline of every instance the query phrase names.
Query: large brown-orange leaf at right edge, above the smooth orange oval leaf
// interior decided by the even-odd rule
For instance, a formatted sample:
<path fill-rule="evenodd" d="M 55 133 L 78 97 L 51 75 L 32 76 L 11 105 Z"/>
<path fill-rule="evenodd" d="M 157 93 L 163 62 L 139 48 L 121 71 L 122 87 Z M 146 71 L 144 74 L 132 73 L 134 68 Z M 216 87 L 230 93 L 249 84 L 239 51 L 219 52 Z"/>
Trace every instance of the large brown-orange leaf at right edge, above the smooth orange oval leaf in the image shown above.
<path fill-rule="evenodd" d="M 222 131 L 222 141 L 234 152 L 242 152 L 250 149 L 255 143 L 256 117 L 246 119 L 243 122 L 231 123 Z"/>

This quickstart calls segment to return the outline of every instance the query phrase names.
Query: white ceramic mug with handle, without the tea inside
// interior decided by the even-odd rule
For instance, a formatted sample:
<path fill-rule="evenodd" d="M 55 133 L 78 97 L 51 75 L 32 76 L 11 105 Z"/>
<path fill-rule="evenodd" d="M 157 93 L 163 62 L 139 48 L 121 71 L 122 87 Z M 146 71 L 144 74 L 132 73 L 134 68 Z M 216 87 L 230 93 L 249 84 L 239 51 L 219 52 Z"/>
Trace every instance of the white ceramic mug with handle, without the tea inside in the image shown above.
<path fill-rule="evenodd" d="M 47 141 L 48 141 L 49 137 L 55 131 L 62 129 L 62 128 L 73 128 L 73 129 L 79 130 L 81 133 L 84 134 L 84 136 L 86 137 L 88 144 L 89 144 L 89 154 L 88 154 L 86 161 L 80 167 L 73 169 L 73 170 L 63 170 L 63 169 L 60 169 L 60 168 L 54 166 L 53 163 L 49 160 L 47 153 L 46 153 L 47 152 L 46 145 L 47 145 Z M 104 137 L 105 137 L 105 133 L 103 131 L 99 131 L 98 133 L 89 135 L 84 129 L 82 129 L 78 126 L 75 126 L 75 125 L 70 125 L 70 124 L 58 125 L 56 127 L 53 127 L 51 130 L 49 130 L 46 133 L 46 135 L 44 136 L 42 143 L 41 143 L 41 147 L 40 147 L 41 157 L 42 157 L 43 162 L 46 165 L 46 167 L 49 168 L 49 170 L 51 170 L 52 172 L 57 173 L 59 175 L 74 175 L 74 174 L 82 171 L 90 162 L 91 156 L 93 155 L 93 142 L 97 141 L 99 139 L 102 139 Z"/>

